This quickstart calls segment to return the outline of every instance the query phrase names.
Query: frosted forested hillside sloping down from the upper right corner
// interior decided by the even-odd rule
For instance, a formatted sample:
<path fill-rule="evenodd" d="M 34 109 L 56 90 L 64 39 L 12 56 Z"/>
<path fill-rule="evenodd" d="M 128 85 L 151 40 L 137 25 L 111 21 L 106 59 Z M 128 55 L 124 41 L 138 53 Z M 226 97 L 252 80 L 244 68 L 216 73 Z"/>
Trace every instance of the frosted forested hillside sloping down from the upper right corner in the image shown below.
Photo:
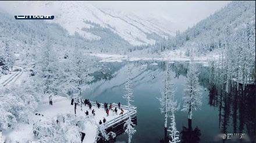
<path fill-rule="evenodd" d="M 244 38 L 242 33 L 255 37 L 255 1 L 233 1 L 176 37 L 158 42 L 154 49 L 183 47 L 189 52 L 193 48 L 199 55 L 205 55 L 215 49 L 219 51 L 227 43 L 237 45 L 235 42 Z"/>

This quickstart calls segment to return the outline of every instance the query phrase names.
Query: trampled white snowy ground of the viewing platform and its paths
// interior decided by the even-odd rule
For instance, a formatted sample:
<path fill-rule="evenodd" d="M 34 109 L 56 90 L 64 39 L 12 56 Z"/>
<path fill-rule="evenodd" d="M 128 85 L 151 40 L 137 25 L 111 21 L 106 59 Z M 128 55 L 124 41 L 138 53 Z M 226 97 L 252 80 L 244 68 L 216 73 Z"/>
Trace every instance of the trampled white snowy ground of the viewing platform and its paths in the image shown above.
<path fill-rule="evenodd" d="M 54 103 L 51 106 L 49 105 L 48 98 L 43 99 L 42 102 L 39 103 L 36 113 L 40 113 L 44 116 L 38 116 L 35 114 L 30 115 L 30 124 L 18 123 L 15 130 L 10 131 L 10 133 L 5 134 L 5 136 L 8 135 L 10 138 L 12 138 L 13 141 L 19 142 L 26 142 L 27 140 L 36 141 L 33 134 L 33 122 L 41 119 L 56 119 L 56 116 L 59 114 L 74 114 L 74 106 L 70 105 L 70 99 L 63 96 L 55 96 L 55 98 L 53 98 L 53 101 Z M 120 116 L 120 110 L 118 109 L 118 115 L 115 115 L 114 112 L 110 111 L 109 116 L 107 117 L 102 105 L 99 109 L 96 106 L 92 107 L 92 110 L 95 109 L 95 116 L 91 114 L 91 110 L 88 108 L 88 106 L 83 105 L 82 108 L 83 110 L 81 110 L 80 106 L 77 106 L 77 116 L 86 116 L 85 112 L 86 110 L 88 110 L 89 118 L 91 119 L 90 121 L 86 122 L 85 130 L 83 131 L 84 133 L 86 133 L 86 137 L 83 141 L 85 143 L 91 143 L 95 141 L 95 138 L 97 137 L 97 126 L 95 126 L 95 124 L 98 124 L 99 120 L 102 121 L 103 117 L 105 117 L 106 123 L 108 123 L 108 121 Z M 126 111 L 127 110 L 125 110 L 124 113 L 126 113 Z"/>

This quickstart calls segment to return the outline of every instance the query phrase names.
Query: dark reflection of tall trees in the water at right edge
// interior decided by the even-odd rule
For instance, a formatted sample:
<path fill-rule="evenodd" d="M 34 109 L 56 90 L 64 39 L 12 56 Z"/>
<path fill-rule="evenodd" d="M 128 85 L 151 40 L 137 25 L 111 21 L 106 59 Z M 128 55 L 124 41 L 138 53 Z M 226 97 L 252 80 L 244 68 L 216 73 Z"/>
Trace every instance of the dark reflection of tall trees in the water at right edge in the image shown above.
<path fill-rule="evenodd" d="M 218 88 L 218 85 L 210 85 L 209 105 L 219 108 L 219 128 L 221 133 L 246 134 L 247 138 L 242 138 L 241 141 L 255 141 L 255 85 L 248 85 L 244 91 L 243 88 L 237 91 L 235 86 L 230 87 L 228 93 L 218 89 L 221 89 L 221 87 Z M 232 129 L 228 129 L 229 126 Z"/>

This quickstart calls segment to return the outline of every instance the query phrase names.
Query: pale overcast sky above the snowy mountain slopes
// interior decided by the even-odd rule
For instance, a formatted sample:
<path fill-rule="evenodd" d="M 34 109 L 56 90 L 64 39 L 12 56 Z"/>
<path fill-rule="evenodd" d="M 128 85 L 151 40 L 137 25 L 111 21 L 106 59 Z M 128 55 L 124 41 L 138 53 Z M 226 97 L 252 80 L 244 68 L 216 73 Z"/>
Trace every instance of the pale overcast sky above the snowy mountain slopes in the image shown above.
<path fill-rule="evenodd" d="M 34 1 L 35 2 L 35 1 Z M 193 24 L 205 19 L 207 16 L 221 9 L 230 1 L 87 1 L 100 9 L 113 9 L 126 13 L 136 13 L 152 17 L 164 17 L 183 27 L 193 26 Z M 26 4 L 25 4 L 26 3 Z M 30 2 L 29 2 L 30 3 Z M 38 2 L 40 3 L 40 2 Z M 14 7 L 14 5 L 16 5 Z M 9 12 L 16 10 L 36 11 L 37 8 L 24 7 L 27 2 L 1 1 L 0 8 L 7 9 Z M 46 11 L 51 12 L 54 8 Z M 55 9 L 55 11 L 58 11 Z"/>

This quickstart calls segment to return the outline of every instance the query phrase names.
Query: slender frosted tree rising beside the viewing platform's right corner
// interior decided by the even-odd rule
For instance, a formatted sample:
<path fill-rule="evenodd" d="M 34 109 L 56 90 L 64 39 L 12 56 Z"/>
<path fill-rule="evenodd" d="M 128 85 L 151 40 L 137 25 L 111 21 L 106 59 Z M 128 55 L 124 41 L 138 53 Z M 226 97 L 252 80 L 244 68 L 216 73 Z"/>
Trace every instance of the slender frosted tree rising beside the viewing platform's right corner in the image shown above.
<path fill-rule="evenodd" d="M 126 99 L 127 101 L 127 116 L 128 119 L 125 121 L 124 124 L 124 128 L 125 128 L 125 133 L 128 134 L 128 142 L 131 142 L 131 138 L 133 136 L 133 134 L 136 133 L 136 130 L 134 129 L 134 124 L 133 121 L 131 120 L 131 112 L 134 110 L 133 109 L 133 105 L 131 105 L 131 102 L 133 102 L 132 98 L 133 98 L 133 90 L 131 87 L 131 69 L 130 69 L 130 65 L 127 66 L 127 80 L 125 83 L 125 95 L 123 96 L 123 98 Z"/>

